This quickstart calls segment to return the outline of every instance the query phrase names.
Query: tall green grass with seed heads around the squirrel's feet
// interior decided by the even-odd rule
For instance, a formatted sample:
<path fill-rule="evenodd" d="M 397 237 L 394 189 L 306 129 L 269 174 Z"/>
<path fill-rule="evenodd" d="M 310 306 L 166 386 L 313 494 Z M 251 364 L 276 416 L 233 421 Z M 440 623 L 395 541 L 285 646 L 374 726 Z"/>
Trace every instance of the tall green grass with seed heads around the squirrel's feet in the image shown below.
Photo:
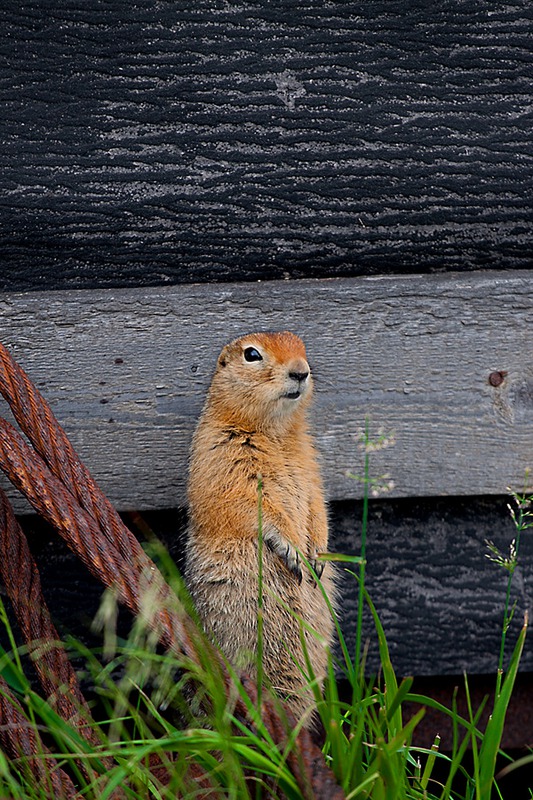
<path fill-rule="evenodd" d="M 349 800 L 490 800 L 492 792 L 498 796 L 494 779 L 496 757 L 526 635 L 525 623 L 504 672 L 506 637 L 514 612 L 510 605 L 510 582 L 520 535 L 533 524 L 533 498 L 527 489 L 513 497 L 516 536 L 509 556 L 503 556 L 493 545 L 489 550 L 498 566 L 507 570 L 509 582 L 507 599 L 503 601 L 504 625 L 495 698 L 486 730 L 481 733 L 478 726 L 482 708 L 475 709 L 469 702 L 467 716 L 461 717 L 455 700 L 450 708 L 445 708 L 429 697 L 413 693 L 411 679 L 397 679 L 383 626 L 365 586 L 368 500 L 378 483 L 383 483 L 372 479 L 369 457 L 378 445 L 386 442 L 383 436 L 378 437 L 377 443 L 372 442 L 367 424 L 362 436 L 364 469 L 360 476 L 364 488 L 361 555 L 347 559 L 326 557 L 344 561 L 344 568 L 353 576 L 360 601 L 355 650 L 351 652 L 335 620 L 339 646 L 330 656 L 324 686 L 315 680 L 309 659 L 302 665 L 309 675 L 317 726 L 323 731 L 324 758 Z M 261 488 L 260 485 L 260 493 Z M 184 610 L 191 611 L 183 582 L 162 547 L 154 541 L 148 548 Z M 507 563 L 512 559 L 513 568 Z M 308 567 L 311 569 L 311 565 Z M 261 580 L 258 587 L 260 620 Z M 374 679 L 365 677 L 363 606 L 373 620 L 379 647 L 380 671 Z M 134 621 L 129 635 L 121 638 L 115 629 L 115 619 L 115 599 L 107 592 L 99 615 L 101 649 L 87 650 L 74 641 L 64 644 L 76 662 L 83 660 L 83 683 L 92 687 L 92 703 L 98 716 L 93 725 L 100 744 L 91 745 L 32 689 L 25 675 L 24 648 L 15 645 L 5 609 L 0 605 L 0 623 L 10 643 L 7 650 L 0 651 L 0 674 L 24 709 L 28 725 L 42 735 L 43 742 L 56 756 L 57 763 L 73 777 L 83 797 L 106 800 L 120 790 L 125 798 L 161 800 L 279 796 L 303 799 L 304 794 L 287 763 L 296 732 L 287 731 L 287 745 L 280 752 L 262 725 L 258 706 L 247 697 L 237 676 L 235 693 L 244 698 L 254 724 L 247 726 L 236 716 L 236 695 L 226 696 L 219 663 L 212 657 L 212 645 L 199 625 L 200 660 L 196 663 L 161 652 L 141 618 Z M 303 637 L 302 642 L 305 652 Z M 349 692 L 342 696 L 339 675 L 349 686 Z M 260 693 L 266 693 L 268 687 L 266 684 L 263 687 L 260 672 L 259 684 Z M 465 690 L 469 697 L 466 678 Z M 409 718 L 404 710 L 406 702 L 419 707 Z M 440 752 L 438 737 L 427 749 L 413 745 L 413 734 L 427 707 L 450 719 L 454 731 L 451 752 Z M 472 756 L 470 769 L 465 766 L 467 752 Z M 45 761 L 43 754 L 43 763 L 52 762 Z M 81 769 L 80 764 L 87 768 Z M 24 755 L 18 760 L 8 760 L 0 753 L 0 797 L 32 800 L 51 797 L 46 782 L 36 783 L 26 767 Z M 456 788 L 459 775 L 460 790 Z"/>

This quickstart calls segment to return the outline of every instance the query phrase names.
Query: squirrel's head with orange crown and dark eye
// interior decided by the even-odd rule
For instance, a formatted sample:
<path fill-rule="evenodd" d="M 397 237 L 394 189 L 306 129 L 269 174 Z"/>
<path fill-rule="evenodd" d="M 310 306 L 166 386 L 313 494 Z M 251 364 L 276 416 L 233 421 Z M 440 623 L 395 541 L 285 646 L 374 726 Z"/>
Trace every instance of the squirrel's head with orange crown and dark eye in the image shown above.
<path fill-rule="evenodd" d="M 261 428 L 303 411 L 311 394 L 302 340 L 289 331 L 251 333 L 222 350 L 210 404 L 235 422 Z"/>

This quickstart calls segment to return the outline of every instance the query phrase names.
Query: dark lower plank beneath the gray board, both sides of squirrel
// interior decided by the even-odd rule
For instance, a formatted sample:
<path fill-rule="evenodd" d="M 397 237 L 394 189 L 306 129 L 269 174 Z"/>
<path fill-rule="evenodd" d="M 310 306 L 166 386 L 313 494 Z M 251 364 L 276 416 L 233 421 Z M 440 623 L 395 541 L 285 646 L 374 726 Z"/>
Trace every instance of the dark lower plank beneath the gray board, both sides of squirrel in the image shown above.
<path fill-rule="evenodd" d="M 391 658 L 398 676 L 460 676 L 466 670 L 494 675 L 500 648 L 507 574 L 485 558 L 485 539 L 509 553 L 515 530 L 505 497 L 379 498 L 370 504 L 366 585 L 383 623 Z M 143 536 L 128 515 L 126 522 Z M 144 512 L 148 525 L 182 565 L 185 516 L 173 511 Z M 61 631 L 97 644 L 89 631 L 98 610 L 102 587 L 41 521 L 22 518 L 30 535 L 45 594 Z M 336 552 L 359 554 L 361 502 L 332 503 L 331 547 Z M 350 567 L 350 565 L 347 565 Z M 351 565 L 353 567 L 353 565 Z M 339 617 L 348 649 L 353 654 L 357 613 L 355 579 L 337 565 Z M 511 602 L 515 617 L 508 632 L 508 657 L 531 605 L 533 540 L 522 537 L 519 568 Z M 121 632 L 131 620 L 125 615 Z M 377 637 L 365 614 L 364 640 L 368 642 L 367 672 L 379 667 Z M 522 670 L 533 672 L 533 649 L 527 647 Z M 435 723 L 438 724 L 438 723 Z M 528 732 L 530 726 L 527 727 Z M 439 727 L 433 730 L 433 737 Z"/>

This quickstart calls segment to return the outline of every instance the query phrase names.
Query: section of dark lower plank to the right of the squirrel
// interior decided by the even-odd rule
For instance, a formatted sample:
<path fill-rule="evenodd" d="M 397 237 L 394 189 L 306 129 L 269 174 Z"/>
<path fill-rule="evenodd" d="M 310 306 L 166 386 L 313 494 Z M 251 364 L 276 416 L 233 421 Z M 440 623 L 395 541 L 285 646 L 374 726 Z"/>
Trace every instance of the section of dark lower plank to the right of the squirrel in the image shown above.
<path fill-rule="evenodd" d="M 360 552 L 361 504 L 332 507 L 333 546 Z M 381 500 L 370 506 L 366 585 L 378 609 L 392 662 L 400 675 L 495 673 L 498 667 L 507 573 L 485 558 L 486 539 L 507 555 L 516 531 L 506 498 Z M 533 541 L 522 537 L 508 633 L 510 655 L 531 607 Z M 341 575 L 343 633 L 355 640 L 357 588 Z M 368 671 L 379 668 L 370 615 Z M 523 670 L 533 670 L 526 645 Z"/>

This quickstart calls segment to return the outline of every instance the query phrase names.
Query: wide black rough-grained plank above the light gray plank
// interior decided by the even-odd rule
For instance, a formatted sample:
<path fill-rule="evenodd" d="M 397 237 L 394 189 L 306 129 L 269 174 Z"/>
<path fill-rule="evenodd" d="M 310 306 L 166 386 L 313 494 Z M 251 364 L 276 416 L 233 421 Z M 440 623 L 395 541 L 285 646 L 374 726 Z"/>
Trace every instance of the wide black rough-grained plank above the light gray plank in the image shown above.
<path fill-rule="evenodd" d="M 0 288 L 531 268 L 530 0 L 0 9 Z"/>

